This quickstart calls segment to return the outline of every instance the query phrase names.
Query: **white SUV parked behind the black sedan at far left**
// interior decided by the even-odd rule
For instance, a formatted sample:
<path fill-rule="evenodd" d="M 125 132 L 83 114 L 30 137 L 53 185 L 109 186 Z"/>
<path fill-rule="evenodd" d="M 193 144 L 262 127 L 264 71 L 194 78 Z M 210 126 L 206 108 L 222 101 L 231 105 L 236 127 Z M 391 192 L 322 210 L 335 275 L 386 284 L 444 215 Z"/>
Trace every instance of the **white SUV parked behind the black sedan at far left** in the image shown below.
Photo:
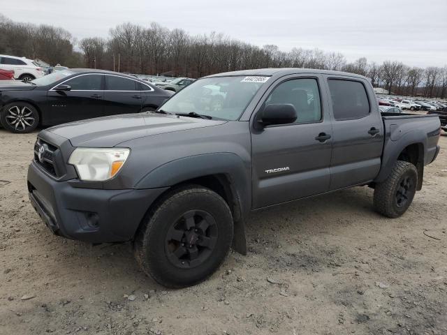
<path fill-rule="evenodd" d="M 15 79 L 22 80 L 22 82 L 30 82 L 45 75 L 41 66 L 38 66 L 33 60 L 4 54 L 0 54 L 0 69 L 13 70 Z"/>

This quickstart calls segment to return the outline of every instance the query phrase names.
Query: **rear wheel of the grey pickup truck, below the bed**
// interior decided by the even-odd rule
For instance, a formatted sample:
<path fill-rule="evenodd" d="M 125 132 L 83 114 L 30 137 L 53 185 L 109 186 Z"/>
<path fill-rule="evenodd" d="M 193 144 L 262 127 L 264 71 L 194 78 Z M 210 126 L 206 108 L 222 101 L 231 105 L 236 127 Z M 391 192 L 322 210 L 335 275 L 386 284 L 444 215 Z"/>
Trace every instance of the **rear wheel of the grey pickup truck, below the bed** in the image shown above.
<path fill-rule="evenodd" d="M 374 209 L 397 218 L 410 207 L 418 184 L 418 170 L 409 162 L 397 161 L 388 178 L 374 188 Z"/>

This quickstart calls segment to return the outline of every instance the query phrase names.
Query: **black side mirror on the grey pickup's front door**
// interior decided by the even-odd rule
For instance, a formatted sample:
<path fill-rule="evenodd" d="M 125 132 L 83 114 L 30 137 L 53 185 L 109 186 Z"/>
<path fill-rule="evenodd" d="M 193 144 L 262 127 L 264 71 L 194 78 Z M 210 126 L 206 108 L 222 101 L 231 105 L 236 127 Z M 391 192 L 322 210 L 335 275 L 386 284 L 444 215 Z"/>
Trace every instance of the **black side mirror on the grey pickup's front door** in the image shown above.
<path fill-rule="evenodd" d="M 255 127 L 261 129 L 273 124 L 292 124 L 297 118 L 295 107 L 290 103 L 272 103 L 258 112 Z"/>

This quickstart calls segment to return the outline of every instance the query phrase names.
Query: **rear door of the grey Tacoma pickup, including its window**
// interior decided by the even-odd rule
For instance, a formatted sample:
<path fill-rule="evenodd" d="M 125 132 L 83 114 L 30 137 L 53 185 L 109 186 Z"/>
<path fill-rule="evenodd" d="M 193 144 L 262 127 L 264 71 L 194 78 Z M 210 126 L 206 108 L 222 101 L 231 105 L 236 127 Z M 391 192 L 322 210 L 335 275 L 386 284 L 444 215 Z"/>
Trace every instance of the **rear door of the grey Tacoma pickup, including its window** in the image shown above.
<path fill-rule="evenodd" d="M 369 83 L 361 78 L 327 77 L 333 149 L 330 191 L 372 181 L 379 173 L 383 123 Z"/>

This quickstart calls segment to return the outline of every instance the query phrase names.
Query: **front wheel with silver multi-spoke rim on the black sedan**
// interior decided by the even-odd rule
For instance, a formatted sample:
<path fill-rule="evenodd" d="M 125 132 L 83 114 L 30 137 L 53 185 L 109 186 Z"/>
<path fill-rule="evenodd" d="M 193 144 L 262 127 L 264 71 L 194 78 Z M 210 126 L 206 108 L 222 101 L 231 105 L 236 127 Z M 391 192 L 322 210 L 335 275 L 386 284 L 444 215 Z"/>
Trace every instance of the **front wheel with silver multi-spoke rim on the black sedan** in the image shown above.
<path fill-rule="evenodd" d="M 29 133 L 34 131 L 40 121 L 39 113 L 33 105 L 17 101 L 8 103 L 0 114 L 3 128 L 12 133 Z"/>

